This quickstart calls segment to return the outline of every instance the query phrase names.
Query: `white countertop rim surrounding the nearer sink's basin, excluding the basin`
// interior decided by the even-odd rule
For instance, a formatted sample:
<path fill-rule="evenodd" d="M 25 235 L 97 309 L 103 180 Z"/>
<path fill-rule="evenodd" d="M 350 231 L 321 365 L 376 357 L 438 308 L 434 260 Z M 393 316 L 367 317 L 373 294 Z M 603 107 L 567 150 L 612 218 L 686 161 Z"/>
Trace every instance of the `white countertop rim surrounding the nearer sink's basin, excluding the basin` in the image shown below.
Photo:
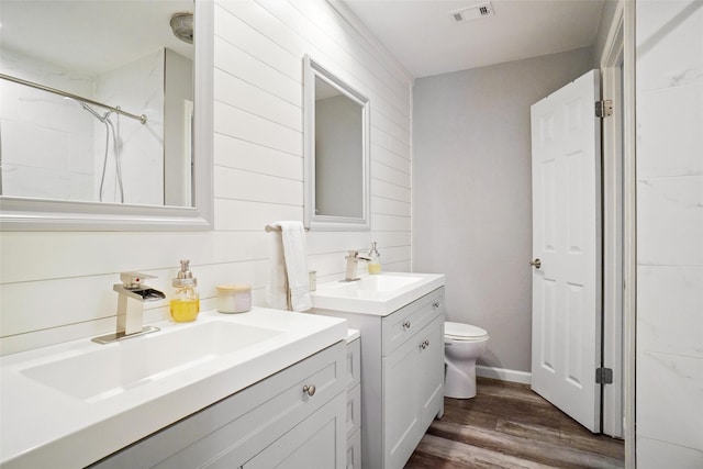
<path fill-rule="evenodd" d="M 70 395 L 27 372 L 36 367 L 49 369 L 51 365 L 45 366 L 62 357 L 148 340 L 209 321 L 270 327 L 280 334 L 99 399 Z M 263 308 L 243 314 L 202 312 L 193 323 L 164 321 L 149 325 L 161 331 L 109 345 L 86 338 L 1 357 L 0 466 L 87 466 L 348 336 L 346 321 Z M 91 377 L 85 376 L 85 380 L 89 387 Z M 80 386 L 74 383 L 71 389 Z"/>

